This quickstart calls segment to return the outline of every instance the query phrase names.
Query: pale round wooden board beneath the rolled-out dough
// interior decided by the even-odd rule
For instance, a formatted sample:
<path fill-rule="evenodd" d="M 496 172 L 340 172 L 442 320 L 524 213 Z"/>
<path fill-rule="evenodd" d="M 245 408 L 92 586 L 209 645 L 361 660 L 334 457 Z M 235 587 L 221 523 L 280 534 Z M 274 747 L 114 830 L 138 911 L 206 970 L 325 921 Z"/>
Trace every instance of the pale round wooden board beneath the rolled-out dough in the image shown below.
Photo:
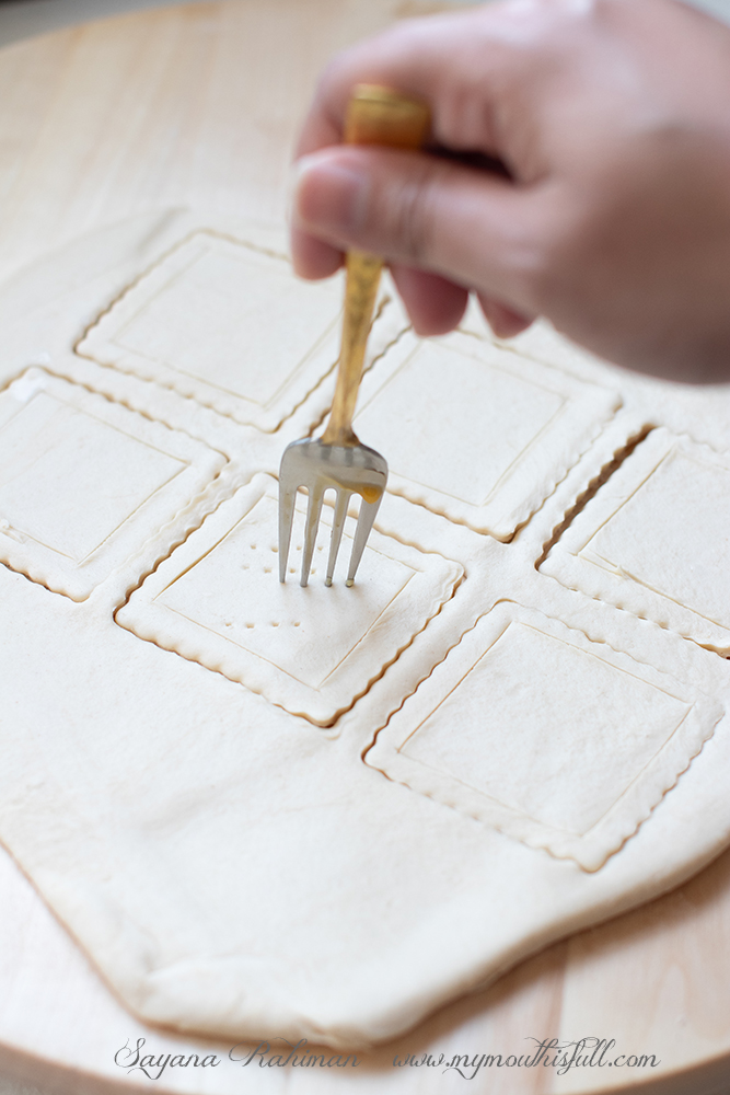
<path fill-rule="evenodd" d="M 229 0 L 74 27 L 0 54 L 0 279 L 76 237 L 147 210 L 190 206 L 276 222 L 289 148 L 316 73 L 335 49 L 418 0 Z M 155 1053 L 200 1047 L 143 1027 L 0 855 L 0 1072 L 42 1091 L 328 1091 L 410 1095 L 459 1090 L 442 1069 L 395 1054 L 524 1053 L 530 1038 L 616 1039 L 654 1070 L 490 1069 L 490 1095 L 730 1086 L 730 852 L 653 904 L 561 943 L 410 1037 L 333 1077 L 306 1071 L 169 1072 L 114 1063 L 129 1039 Z M 228 1047 L 207 1047 L 225 1057 Z M 245 1082 L 244 1082 L 245 1080 Z M 8 1088 L 2 1088 L 3 1092 Z"/>

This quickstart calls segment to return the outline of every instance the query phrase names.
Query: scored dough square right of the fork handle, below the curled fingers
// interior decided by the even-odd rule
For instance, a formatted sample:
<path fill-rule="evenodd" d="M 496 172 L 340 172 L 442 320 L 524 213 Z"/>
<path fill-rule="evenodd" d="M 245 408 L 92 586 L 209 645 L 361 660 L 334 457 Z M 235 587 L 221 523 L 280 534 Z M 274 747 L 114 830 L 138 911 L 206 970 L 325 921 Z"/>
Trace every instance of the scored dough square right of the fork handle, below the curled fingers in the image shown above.
<path fill-rule="evenodd" d="M 389 489 L 507 541 L 619 404 L 473 336 L 408 335 L 363 378 L 355 428 L 387 453 Z"/>

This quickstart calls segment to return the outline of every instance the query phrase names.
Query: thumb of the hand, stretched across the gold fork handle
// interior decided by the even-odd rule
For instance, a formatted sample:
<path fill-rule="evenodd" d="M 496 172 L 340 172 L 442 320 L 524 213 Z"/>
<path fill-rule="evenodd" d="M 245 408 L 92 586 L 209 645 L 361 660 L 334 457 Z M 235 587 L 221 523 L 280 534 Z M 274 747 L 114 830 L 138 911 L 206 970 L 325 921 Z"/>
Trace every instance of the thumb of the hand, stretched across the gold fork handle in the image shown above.
<path fill-rule="evenodd" d="M 292 208 L 300 239 L 439 274 L 519 313 L 541 311 L 529 187 L 427 154 L 335 146 L 298 161 Z"/>

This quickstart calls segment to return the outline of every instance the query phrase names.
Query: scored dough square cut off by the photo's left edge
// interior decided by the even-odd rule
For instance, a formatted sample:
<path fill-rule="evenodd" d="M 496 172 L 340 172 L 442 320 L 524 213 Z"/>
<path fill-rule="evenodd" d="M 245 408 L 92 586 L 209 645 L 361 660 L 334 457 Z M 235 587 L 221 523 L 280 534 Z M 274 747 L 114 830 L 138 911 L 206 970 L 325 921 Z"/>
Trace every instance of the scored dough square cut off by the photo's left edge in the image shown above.
<path fill-rule="evenodd" d="M 84 600 L 225 462 L 187 434 L 30 369 L 0 392 L 0 561 Z"/>

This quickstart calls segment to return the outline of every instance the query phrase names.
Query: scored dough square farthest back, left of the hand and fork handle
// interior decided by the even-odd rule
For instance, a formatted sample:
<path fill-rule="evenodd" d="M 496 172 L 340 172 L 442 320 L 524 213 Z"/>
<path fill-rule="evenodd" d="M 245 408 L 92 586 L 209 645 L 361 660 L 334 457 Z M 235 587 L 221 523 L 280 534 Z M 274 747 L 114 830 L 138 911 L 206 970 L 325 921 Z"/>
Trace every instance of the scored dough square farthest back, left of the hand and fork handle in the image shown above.
<path fill-rule="evenodd" d="M 139 278 L 77 351 L 273 431 L 334 368 L 340 310 L 337 280 L 306 284 L 285 258 L 201 231 Z"/>

